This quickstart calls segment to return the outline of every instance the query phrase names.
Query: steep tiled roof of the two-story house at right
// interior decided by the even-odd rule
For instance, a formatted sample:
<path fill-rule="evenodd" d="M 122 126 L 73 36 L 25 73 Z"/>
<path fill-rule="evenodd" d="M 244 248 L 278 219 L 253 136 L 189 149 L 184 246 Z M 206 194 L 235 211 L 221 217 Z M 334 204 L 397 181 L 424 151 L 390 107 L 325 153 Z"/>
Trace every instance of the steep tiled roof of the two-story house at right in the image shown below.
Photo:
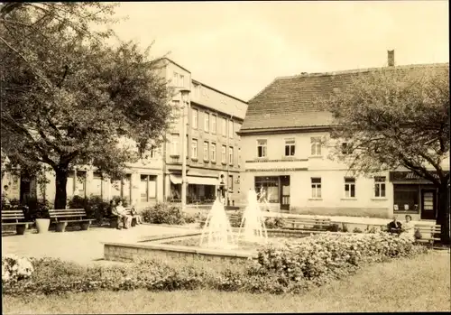
<path fill-rule="evenodd" d="M 421 69 L 447 69 L 449 63 L 397 66 L 406 74 L 421 73 Z M 368 75 L 372 69 L 354 69 L 337 72 L 310 73 L 276 78 L 249 101 L 241 132 L 259 129 L 286 129 L 291 127 L 327 126 L 330 113 L 316 104 L 318 97 L 327 97 L 336 88 L 346 88 L 356 76 Z"/>

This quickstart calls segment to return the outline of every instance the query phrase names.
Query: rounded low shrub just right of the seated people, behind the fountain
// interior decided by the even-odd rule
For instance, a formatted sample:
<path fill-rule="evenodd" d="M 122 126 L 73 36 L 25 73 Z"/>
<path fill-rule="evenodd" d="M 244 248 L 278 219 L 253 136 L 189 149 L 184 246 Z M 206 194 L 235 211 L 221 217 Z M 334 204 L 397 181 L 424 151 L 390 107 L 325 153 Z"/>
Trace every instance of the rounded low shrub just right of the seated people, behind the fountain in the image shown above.
<path fill-rule="evenodd" d="M 187 218 L 180 208 L 167 203 L 157 203 L 152 208 L 145 208 L 142 216 L 144 222 L 170 225 L 183 225 Z"/>

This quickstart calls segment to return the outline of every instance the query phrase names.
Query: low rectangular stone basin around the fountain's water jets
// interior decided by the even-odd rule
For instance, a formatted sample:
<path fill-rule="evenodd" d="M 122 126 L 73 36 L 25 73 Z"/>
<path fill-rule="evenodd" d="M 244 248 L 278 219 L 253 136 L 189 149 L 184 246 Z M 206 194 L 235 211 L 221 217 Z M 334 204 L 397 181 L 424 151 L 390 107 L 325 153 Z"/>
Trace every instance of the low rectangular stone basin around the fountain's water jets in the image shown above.
<path fill-rule="evenodd" d="M 183 261 L 216 260 L 230 261 L 236 259 L 255 259 L 257 257 L 258 244 L 253 248 L 217 249 L 200 247 L 199 237 L 201 233 L 187 233 L 178 236 L 157 236 L 144 239 L 137 243 L 104 243 L 104 258 L 109 261 L 133 262 L 138 259 L 164 258 L 180 259 Z M 269 229 L 269 242 L 277 238 L 277 242 L 296 239 L 310 235 L 309 232 L 299 230 Z M 238 246 L 240 243 L 238 242 Z"/>

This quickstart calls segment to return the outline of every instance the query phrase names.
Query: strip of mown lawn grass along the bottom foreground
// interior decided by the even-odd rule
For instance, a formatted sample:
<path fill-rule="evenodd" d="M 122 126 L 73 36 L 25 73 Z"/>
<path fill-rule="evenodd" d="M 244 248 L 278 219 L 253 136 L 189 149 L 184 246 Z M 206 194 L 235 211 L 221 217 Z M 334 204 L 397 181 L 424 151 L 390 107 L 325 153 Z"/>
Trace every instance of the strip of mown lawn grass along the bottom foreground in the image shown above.
<path fill-rule="evenodd" d="M 443 252 L 373 264 L 302 296 L 216 291 L 87 292 L 3 297 L 4 314 L 451 310 Z"/>

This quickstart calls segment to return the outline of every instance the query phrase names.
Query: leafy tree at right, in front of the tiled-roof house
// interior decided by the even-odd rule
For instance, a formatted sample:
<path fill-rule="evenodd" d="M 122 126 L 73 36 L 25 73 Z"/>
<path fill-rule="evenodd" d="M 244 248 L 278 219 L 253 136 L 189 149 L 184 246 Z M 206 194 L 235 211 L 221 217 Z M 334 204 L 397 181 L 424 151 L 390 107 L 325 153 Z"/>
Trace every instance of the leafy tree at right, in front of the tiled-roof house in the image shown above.
<path fill-rule="evenodd" d="M 438 189 L 437 224 L 449 242 L 448 64 L 355 75 L 320 102 L 334 118 L 333 156 L 354 172 L 407 169 Z M 447 171 L 446 171 L 447 168 Z"/>

